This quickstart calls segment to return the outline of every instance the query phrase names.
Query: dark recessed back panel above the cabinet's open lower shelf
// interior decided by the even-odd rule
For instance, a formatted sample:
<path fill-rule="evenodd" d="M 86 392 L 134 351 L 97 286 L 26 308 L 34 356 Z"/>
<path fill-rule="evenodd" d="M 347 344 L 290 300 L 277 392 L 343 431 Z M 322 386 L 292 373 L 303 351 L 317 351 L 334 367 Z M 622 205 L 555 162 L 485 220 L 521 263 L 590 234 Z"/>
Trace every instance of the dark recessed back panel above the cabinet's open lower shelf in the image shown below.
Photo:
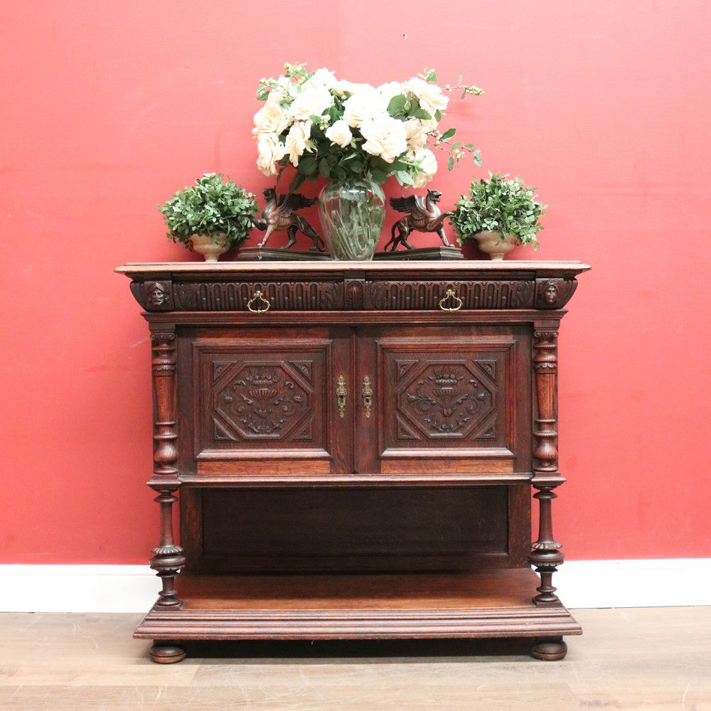
<path fill-rule="evenodd" d="M 237 573 L 506 567 L 510 490 L 205 489 L 195 496 L 201 515 L 193 525 L 195 533 L 201 531 L 202 555 L 196 555 L 200 547 L 190 546 L 190 569 Z"/>

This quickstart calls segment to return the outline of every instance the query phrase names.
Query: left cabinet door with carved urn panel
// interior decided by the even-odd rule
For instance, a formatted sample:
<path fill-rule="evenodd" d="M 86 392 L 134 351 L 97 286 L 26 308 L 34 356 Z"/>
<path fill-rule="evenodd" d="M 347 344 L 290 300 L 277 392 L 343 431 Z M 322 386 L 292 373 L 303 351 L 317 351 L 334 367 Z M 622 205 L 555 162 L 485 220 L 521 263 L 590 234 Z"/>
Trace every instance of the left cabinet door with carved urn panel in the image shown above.
<path fill-rule="evenodd" d="M 349 328 L 205 329 L 191 343 L 198 476 L 351 471 Z M 342 405 L 342 407 L 339 407 Z M 183 470 L 184 471 L 184 470 Z"/>

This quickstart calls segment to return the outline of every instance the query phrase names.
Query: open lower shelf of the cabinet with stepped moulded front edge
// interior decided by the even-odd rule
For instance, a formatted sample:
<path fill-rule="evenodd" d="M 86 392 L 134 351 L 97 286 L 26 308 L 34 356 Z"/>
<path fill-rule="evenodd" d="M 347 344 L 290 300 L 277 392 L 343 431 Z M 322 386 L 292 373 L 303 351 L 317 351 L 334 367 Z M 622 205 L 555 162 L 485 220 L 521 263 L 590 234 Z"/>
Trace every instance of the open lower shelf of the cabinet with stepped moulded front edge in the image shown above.
<path fill-rule="evenodd" d="M 177 579 L 182 604 L 155 606 L 134 637 L 489 638 L 582 634 L 562 604 L 533 603 L 530 569 L 467 574 L 208 576 Z"/>

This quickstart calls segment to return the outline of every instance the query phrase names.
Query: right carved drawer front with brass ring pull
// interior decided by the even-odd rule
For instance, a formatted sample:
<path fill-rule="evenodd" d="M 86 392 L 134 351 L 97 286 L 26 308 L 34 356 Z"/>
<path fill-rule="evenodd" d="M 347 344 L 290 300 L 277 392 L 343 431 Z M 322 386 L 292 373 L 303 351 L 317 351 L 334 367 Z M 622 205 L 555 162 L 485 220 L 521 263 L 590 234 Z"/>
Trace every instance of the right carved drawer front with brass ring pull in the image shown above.
<path fill-rule="evenodd" d="M 369 282 L 366 308 L 378 311 L 530 309 L 531 281 Z"/>

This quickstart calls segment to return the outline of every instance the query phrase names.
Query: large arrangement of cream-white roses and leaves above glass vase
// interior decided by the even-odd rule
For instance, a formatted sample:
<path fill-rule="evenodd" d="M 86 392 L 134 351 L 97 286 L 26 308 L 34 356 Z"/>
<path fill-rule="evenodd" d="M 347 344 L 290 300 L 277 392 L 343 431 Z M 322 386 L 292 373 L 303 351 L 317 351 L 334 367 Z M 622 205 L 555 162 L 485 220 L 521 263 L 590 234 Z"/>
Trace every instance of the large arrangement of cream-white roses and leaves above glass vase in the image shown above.
<path fill-rule="evenodd" d="M 264 175 L 294 166 L 290 190 L 319 176 L 367 178 L 378 185 L 395 176 L 400 185 L 422 188 L 437 173 L 433 148 L 448 152 L 449 170 L 467 154 L 481 166 L 473 144 L 451 141 L 454 128 L 438 130 L 449 102 L 444 92 L 461 90 L 462 98 L 483 93 L 462 85 L 461 77 L 443 90 L 434 70 L 425 70 L 405 82 L 373 87 L 338 80 L 327 69 L 284 69 L 277 79 L 260 80 L 257 99 L 265 103 L 252 133 Z"/>

